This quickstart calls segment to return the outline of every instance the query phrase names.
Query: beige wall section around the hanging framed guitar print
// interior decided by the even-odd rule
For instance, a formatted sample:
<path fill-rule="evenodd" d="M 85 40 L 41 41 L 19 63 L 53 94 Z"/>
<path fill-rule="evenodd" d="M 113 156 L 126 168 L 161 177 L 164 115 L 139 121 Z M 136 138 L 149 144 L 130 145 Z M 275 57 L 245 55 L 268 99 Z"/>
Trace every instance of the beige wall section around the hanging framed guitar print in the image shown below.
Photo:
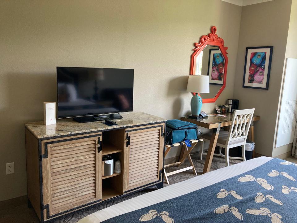
<path fill-rule="evenodd" d="M 260 121 L 255 122 L 256 153 L 272 156 L 279 94 L 286 53 L 291 0 L 275 0 L 242 8 L 234 97 L 239 108 L 255 108 Z M 273 46 L 269 90 L 243 88 L 246 47 Z"/>

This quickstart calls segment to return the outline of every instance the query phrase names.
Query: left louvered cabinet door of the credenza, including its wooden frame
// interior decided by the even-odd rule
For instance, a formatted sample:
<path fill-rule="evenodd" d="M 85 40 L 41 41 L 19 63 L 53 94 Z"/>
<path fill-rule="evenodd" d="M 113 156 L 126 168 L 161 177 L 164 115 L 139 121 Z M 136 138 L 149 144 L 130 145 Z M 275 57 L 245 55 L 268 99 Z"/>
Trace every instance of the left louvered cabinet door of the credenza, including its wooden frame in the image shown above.
<path fill-rule="evenodd" d="M 45 219 L 101 199 L 101 134 L 45 142 L 42 149 Z"/>

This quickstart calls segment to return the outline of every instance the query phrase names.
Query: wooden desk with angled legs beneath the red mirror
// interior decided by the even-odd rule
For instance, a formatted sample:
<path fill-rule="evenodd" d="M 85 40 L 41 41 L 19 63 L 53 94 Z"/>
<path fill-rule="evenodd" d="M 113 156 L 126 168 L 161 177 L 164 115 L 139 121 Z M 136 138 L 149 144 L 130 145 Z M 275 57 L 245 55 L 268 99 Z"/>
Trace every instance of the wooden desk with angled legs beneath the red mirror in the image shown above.
<path fill-rule="evenodd" d="M 217 137 L 219 135 L 220 128 L 231 125 L 233 113 L 225 113 L 223 115 L 226 115 L 226 117 L 208 116 L 208 117 L 205 117 L 200 120 L 190 119 L 187 116 L 181 117 L 181 120 L 183 120 L 183 121 L 188 121 L 188 122 L 194 123 L 198 126 L 206 128 L 206 129 L 213 129 L 213 133 L 212 133 L 211 140 L 209 143 L 209 149 L 207 151 L 207 156 L 206 156 L 206 160 L 205 160 L 205 164 L 204 164 L 202 173 L 207 173 L 210 170 L 211 162 L 213 160 L 213 153 L 214 153 L 214 149 L 216 148 Z M 250 132 L 248 134 L 249 140 L 251 140 L 253 142 L 254 142 L 254 121 L 258 121 L 258 120 L 260 120 L 260 116 L 254 115 L 252 124 L 250 127 Z M 253 157 L 254 156 L 255 156 L 255 150 L 253 151 Z"/>

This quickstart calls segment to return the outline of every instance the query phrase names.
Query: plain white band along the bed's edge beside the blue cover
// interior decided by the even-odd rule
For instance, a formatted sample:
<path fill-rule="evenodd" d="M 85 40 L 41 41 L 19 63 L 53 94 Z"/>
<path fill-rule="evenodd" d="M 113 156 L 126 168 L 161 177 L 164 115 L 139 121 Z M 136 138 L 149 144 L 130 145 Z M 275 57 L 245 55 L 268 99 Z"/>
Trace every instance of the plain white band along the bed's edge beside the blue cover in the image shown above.
<path fill-rule="evenodd" d="M 186 181 L 182 181 L 170 186 L 166 186 L 162 189 L 155 190 L 144 195 L 123 201 L 115 204 L 103 210 L 90 214 L 78 223 L 99 223 L 109 218 L 125 214 L 127 212 L 135 211 L 141 208 L 148 207 L 150 205 L 160 203 L 165 200 L 169 200 L 187 193 L 199 190 L 201 188 L 213 185 L 217 182 L 235 177 L 247 171 L 250 171 L 256 167 L 265 164 L 271 157 L 259 157 L 256 159 L 248 160 L 239 164 L 235 164 L 229 167 L 221 168 L 203 175 L 193 177 Z"/>

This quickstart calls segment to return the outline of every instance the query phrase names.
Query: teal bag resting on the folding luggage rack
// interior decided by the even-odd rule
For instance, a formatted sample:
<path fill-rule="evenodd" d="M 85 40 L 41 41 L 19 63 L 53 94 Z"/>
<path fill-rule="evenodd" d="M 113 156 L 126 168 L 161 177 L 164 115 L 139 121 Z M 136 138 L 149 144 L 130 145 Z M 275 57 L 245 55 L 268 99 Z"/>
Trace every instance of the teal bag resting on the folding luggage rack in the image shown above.
<path fill-rule="evenodd" d="M 186 139 L 198 138 L 198 126 L 186 121 L 177 119 L 166 122 L 166 144 L 185 141 Z"/>

